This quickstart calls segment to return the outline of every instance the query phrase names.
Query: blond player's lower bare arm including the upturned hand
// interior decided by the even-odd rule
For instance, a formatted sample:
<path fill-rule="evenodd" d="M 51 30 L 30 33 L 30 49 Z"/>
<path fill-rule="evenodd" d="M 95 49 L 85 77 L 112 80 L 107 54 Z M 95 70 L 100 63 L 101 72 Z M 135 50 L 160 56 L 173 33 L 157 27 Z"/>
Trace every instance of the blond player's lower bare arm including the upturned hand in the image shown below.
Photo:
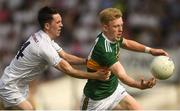
<path fill-rule="evenodd" d="M 113 64 L 110 67 L 110 70 L 119 78 L 119 80 L 122 83 L 131 87 L 135 87 L 138 89 L 147 89 L 152 88 L 156 84 L 155 78 L 151 78 L 149 80 L 141 79 L 140 81 L 134 80 L 133 78 L 127 75 L 126 71 L 124 70 L 124 67 L 121 65 L 119 61 Z"/>

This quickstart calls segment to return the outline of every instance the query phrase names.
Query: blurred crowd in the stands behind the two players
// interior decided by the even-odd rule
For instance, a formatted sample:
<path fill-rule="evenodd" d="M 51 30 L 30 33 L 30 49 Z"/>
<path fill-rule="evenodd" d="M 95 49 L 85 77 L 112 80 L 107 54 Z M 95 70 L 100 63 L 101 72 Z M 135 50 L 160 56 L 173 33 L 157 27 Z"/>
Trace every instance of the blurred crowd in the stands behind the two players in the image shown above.
<path fill-rule="evenodd" d="M 37 12 L 43 6 L 60 9 L 64 50 L 87 57 L 99 33 L 98 12 L 122 10 L 124 37 L 150 47 L 176 49 L 180 45 L 180 0 L 0 0 L 0 74 L 27 38 L 37 30 Z M 54 69 L 47 70 L 57 76 Z"/>

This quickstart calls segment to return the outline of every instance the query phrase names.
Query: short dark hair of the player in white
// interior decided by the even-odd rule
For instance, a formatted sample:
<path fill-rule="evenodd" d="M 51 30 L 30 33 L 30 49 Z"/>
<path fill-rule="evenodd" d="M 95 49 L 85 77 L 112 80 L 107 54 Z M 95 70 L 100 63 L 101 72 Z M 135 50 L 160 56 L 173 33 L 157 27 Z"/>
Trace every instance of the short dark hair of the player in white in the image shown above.
<path fill-rule="evenodd" d="M 45 23 L 51 22 L 53 14 L 59 14 L 59 10 L 52 7 L 43 7 L 38 12 L 38 22 L 42 29 L 44 29 Z"/>

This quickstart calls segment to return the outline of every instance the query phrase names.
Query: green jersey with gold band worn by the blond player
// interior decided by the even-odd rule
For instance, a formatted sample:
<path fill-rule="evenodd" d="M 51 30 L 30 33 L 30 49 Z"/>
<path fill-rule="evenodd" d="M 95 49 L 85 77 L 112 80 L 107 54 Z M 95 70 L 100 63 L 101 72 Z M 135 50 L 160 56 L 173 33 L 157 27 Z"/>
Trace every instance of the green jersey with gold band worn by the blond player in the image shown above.
<path fill-rule="evenodd" d="M 116 42 L 109 41 L 103 33 L 97 36 L 94 47 L 88 57 L 87 70 L 94 72 L 101 68 L 109 68 L 119 59 L 119 51 L 123 38 Z M 110 96 L 118 86 L 118 78 L 111 73 L 107 81 L 89 79 L 84 88 L 84 94 L 93 99 L 100 100 Z"/>

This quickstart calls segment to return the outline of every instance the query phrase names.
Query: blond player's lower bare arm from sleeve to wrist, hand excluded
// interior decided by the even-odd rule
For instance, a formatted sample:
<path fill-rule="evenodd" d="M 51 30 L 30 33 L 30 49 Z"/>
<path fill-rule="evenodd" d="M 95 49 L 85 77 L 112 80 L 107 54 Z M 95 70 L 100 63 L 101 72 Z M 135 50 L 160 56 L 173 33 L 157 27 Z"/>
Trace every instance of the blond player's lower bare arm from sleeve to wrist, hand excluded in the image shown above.
<path fill-rule="evenodd" d="M 118 79 L 131 87 L 135 87 L 135 88 L 139 88 L 141 89 L 141 83 L 140 81 L 136 81 L 133 78 L 131 78 L 130 76 L 127 75 L 124 67 L 121 65 L 121 63 L 118 61 L 116 63 L 114 63 L 111 67 L 110 70 L 112 71 L 113 74 L 115 74 Z"/>

